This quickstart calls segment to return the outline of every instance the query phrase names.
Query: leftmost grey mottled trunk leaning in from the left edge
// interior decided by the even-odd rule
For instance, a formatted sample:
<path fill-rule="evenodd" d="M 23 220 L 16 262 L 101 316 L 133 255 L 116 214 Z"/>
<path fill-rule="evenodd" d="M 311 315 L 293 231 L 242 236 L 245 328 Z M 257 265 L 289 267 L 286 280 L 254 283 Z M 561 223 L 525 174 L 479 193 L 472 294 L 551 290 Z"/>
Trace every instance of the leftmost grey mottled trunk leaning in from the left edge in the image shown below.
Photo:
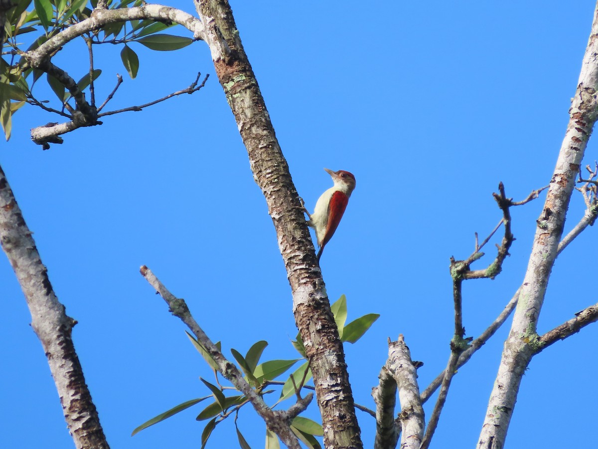
<path fill-rule="evenodd" d="M 0 242 L 31 313 L 31 326 L 44 348 L 54 378 L 66 424 L 80 449 L 106 449 L 96 406 L 72 341 L 72 327 L 77 321 L 66 315 L 44 264 L 41 262 L 32 232 L 0 168 Z"/>

